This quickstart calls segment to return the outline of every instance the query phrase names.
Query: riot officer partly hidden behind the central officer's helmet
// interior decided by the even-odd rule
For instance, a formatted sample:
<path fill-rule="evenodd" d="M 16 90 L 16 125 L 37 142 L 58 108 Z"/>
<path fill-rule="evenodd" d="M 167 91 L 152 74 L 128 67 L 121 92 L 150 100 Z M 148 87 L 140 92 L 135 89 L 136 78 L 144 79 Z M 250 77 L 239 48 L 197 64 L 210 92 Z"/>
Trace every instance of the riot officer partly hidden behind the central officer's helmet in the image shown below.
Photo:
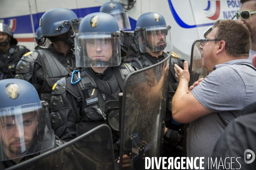
<path fill-rule="evenodd" d="M 105 3 L 99 9 L 100 12 L 111 14 L 117 21 L 119 31 L 124 34 L 122 48 L 127 51 L 127 57 L 123 57 L 124 62 L 131 62 L 132 59 L 140 55 L 139 41 L 134 38 L 134 34 L 131 32 L 125 32 L 124 30 L 130 30 L 131 25 L 127 11 L 122 5 L 116 1 Z"/>

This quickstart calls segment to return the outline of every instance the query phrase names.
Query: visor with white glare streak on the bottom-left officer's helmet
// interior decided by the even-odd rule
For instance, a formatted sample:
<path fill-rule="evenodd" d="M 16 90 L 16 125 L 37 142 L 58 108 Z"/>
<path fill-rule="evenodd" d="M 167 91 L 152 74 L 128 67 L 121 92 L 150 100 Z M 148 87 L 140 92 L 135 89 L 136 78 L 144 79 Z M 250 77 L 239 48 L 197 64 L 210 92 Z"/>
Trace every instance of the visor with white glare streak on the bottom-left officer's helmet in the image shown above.
<path fill-rule="evenodd" d="M 47 150 L 53 137 L 45 102 L 0 109 L 0 161 Z"/>

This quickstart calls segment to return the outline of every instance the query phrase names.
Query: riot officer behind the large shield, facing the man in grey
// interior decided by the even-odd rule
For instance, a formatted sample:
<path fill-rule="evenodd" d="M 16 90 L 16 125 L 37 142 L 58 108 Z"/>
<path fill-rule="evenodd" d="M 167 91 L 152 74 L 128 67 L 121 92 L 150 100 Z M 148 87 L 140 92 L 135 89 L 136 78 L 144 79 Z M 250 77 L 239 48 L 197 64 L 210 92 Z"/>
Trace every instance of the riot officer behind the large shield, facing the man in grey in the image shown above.
<path fill-rule="evenodd" d="M 140 51 L 143 52 L 143 54 L 134 59 L 131 65 L 142 69 L 165 59 L 168 54 L 163 51 L 170 51 L 172 49 L 170 29 L 171 26 L 166 25 L 163 15 L 157 12 L 148 12 L 142 14 L 137 20 L 134 34 L 136 34 L 139 39 Z M 168 91 L 172 91 L 172 94 L 174 94 L 174 91 L 176 91 L 178 85 L 175 77 L 174 64 L 178 64 L 183 68 L 184 60 L 180 59 L 175 53 L 172 52 L 171 62 Z M 171 99 L 169 99 L 168 102 L 171 102 Z M 175 125 L 176 122 L 172 120 L 171 111 L 172 108 L 168 107 L 166 111 L 165 125 L 169 128 L 165 128 L 164 130 L 164 139 L 166 139 L 164 141 L 164 146 L 167 144 L 164 152 L 166 151 L 168 156 L 170 156 L 169 153 L 174 153 L 172 152 L 173 150 L 171 151 L 169 148 L 173 147 L 173 145 L 177 144 L 177 142 L 181 140 L 180 134 L 175 131 L 180 129 L 180 124 Z"/>

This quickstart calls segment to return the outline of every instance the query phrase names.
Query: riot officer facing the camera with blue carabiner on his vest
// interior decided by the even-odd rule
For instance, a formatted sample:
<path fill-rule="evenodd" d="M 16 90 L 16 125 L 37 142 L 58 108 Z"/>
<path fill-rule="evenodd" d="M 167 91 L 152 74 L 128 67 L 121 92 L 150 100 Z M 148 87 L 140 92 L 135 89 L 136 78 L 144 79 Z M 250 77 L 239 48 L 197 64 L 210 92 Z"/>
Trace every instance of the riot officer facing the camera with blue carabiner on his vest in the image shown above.
<path fill-rule="evenodd" d="M 110 14 L 92 13 L 81 21 L 75 34 L 76 66 L 85 68 L 73 71 L 52 88 L 51 125 L 61 140 L 69 141 L 107 124 L 105 102 L 117 101 L 125 77 L 134 71 L 130 65 L 120 64 L 122 37 Z M 117 156 L 118 134 L 112 133 Z"/>

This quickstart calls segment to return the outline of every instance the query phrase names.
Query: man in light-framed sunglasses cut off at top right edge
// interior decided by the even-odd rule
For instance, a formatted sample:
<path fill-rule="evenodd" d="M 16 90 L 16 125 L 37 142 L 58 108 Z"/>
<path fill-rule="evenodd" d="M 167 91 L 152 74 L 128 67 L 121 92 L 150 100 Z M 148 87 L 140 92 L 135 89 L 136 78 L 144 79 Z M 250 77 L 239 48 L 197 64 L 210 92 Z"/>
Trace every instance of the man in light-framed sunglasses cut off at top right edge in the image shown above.
<path fill-rule="evenodd" d="M 239 12 L 236 18 L 243 23 L 249 30 L 251 36 L 251 49 L 248 59 L 252 59 L 256 54 L 256 0 L 241 0 Z"/>

